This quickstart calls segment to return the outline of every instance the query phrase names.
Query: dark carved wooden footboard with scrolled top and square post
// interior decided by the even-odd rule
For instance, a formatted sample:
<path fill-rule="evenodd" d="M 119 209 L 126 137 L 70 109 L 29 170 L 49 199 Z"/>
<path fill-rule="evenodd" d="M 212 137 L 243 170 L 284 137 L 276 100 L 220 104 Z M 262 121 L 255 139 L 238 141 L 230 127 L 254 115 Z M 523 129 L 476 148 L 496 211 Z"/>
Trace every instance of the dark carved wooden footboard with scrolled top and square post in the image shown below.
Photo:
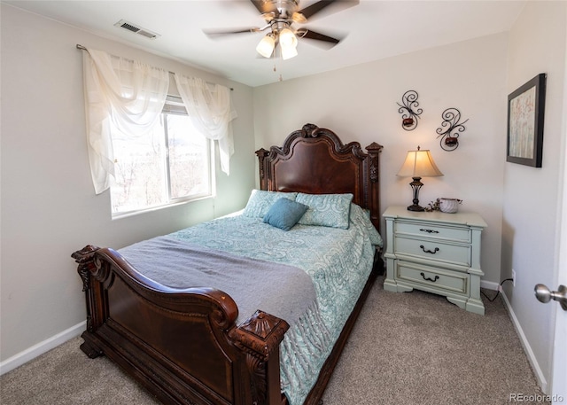
<path fill-rule="evenodd" d="M 105 354 L 160 401 L 283 404 L 279 344 L 289 325 L 212 288 L 176 290 L 142 276 L 112 249 L 73 253 L 87 300 L 82 351 Z"/>

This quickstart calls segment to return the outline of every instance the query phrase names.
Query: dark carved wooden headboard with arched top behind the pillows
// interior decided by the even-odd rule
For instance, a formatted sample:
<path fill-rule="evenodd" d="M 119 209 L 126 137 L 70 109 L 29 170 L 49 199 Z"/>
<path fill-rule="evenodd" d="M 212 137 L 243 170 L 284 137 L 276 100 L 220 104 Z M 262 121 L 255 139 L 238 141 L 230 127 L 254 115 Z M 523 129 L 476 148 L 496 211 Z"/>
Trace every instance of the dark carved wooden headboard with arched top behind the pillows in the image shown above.
<path fill-rule="evenodd" d="M 373 142 L 362 152 L 361 144 L 343 144 L 330 129 L 306 124 L 291 132 L 282 147 L 256 151 L 260 167 L 260 189 L 299 191 L 309 194 L 353 194 L 353 202 L 369 209 L 370 219 L 380 231 L 379 153 Z"/>

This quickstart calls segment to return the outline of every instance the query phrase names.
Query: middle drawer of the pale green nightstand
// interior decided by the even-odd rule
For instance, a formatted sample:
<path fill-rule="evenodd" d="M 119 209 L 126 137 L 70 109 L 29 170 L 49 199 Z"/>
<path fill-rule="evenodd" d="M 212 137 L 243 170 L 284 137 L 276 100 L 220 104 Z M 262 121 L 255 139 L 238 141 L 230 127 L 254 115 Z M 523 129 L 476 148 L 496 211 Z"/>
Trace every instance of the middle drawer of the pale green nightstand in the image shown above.
<path fill-rule="evenodd" d="M 394 237 L 394 253 L 430 261 L 470 266 L 470 245 L 450 245 L 434 239 Z"/>

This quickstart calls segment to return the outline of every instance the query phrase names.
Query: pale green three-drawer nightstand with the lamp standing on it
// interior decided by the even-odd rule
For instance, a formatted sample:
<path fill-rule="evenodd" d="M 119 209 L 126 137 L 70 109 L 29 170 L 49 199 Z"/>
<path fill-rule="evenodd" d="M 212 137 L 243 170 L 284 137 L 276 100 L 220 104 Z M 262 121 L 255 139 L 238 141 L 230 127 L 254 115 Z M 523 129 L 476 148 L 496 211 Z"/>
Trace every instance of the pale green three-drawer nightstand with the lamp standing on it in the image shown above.
<path fill-rule="evenodd" d="M 484 315 L 480 299 L 480 236 L 486 222 L 475 213 L 413 212 L 390 206 L 386 221 L 387 276 L 384 290 L 414 288 L 447 297 Z"/>

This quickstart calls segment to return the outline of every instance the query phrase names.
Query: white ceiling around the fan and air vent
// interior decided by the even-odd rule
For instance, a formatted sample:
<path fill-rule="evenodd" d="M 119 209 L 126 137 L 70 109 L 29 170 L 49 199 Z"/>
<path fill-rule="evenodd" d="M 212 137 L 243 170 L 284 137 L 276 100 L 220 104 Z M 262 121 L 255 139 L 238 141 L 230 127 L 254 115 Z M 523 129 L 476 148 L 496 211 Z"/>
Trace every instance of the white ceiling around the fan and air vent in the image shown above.
<path fill-rule="evenodd" d="M 307 24 L 294 25 L 330 36 L 346 35 L 337 46 L 326 50 L 313 45 L 313 41 L 300 39 L 299 56 L 281 60 L 257 55 L 256 44 L 266 32 L 215 40 L 203 33 L 204 29 L 264 26 L 260 13 L 248 0 L 3 2 L 121 43 L 168 55 L 252 87 L 277 82 L 280 74 L 287 80 L 508 31 L 525 3 L 361 0 L 353 7 L 322 12 Z M 299 8 L 313 3 L 314 0 L 302 0 Z M 120 19 L 160 36 L 151 40 L 114 27 Z M 439 63 L 458 64 L 458 60 L 447 55 Z"/>

